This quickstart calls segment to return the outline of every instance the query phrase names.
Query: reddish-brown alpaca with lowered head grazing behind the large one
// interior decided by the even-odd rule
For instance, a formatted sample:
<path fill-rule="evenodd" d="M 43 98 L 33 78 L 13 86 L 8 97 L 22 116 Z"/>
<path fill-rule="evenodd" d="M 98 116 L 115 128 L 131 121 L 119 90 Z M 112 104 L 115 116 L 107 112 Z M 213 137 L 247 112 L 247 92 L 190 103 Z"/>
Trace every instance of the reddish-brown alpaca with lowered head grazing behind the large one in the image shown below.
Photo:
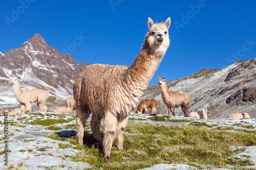
<path fill-rule="evenodd" d="M 140 102 L 137 110 L 135 113 L 148 113 L 148 109 L 151 109 L 152 114 L 157 114 L 157 107 L 158 103 L 155 99 L 147 98 Z"/>

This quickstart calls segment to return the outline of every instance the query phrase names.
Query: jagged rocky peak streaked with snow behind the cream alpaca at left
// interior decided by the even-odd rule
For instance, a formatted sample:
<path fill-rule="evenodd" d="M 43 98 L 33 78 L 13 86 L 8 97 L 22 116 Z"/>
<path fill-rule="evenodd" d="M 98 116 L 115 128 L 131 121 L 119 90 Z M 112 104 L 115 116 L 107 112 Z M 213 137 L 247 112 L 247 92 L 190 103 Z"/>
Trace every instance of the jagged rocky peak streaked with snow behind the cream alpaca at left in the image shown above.
<path fill-rule="evenodd" d="M 73 84 L 79 72 L 88 64 L 76 63 L 65 53 L 50 47 L 39 34 L 33 35 L 20 48 L 0 52 L 0 110 L 19 108 L 12 87 L 10 75 L 17 75 L 22 89 L 40 88 L 49 93 L 48 110 L 65 105 L 64 101 L 73 95 Z M 32 109 L 39 110 L 36 104 Z"/>

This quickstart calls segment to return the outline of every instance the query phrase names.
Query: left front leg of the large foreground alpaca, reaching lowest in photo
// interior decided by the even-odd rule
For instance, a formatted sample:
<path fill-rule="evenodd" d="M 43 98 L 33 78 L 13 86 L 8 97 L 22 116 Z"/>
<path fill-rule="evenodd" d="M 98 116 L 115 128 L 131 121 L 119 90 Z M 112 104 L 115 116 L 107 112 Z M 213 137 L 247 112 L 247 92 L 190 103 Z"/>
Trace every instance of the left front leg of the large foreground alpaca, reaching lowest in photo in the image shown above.
<path fill-rule="evenodd" d="M 106 112 L 104 115 L 104 137 L 103 137 L 103 150 L 104 150 L 104 160 L 110 159 L 111 148 L 113 140 L 116 137 L 117 128 L 117 117 L 111 112 Z"/>

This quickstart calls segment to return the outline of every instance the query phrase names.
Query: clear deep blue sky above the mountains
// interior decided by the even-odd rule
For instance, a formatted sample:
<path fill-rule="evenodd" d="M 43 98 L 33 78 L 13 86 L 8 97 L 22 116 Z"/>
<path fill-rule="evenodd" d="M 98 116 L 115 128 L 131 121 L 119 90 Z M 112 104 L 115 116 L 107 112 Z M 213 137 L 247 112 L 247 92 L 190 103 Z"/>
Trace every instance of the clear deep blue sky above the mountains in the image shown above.
<path fill-rule="evenodd" d="M 256 1 L 0 1 L 0 52 L 39 33 L 76 62 L 130 66 L 147 19 L 172 19 L 170 46 L 157 76 L 179 79 L 204 68 L 256 58 Z"/>

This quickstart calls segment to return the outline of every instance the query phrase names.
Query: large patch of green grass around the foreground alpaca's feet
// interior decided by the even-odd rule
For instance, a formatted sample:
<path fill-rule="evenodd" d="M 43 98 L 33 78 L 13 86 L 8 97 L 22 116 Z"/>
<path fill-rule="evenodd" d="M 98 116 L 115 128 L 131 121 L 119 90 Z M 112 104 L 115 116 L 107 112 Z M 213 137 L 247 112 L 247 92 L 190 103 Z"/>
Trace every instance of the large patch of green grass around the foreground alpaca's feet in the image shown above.
<path fill-rule="evenodd" d="M 104 170 L 139 169 L 159 163 L 191 164 L 198 169 L 202 165 L 207 169 L 243 169 L 243 166 L 251 165 L 249 160 L 233 156 L 243 151 L 236 147 L 256 145 L 255 133 L 209 130 L 197 126 L 129 124 L 124 130 L 123 151 L 118 151 L 114 142 L 111 161 L 108 162 L 103 161 L 103 154 L 94 145 L 80 148 L 75 139 L 57 135 L 48 137 L 75 144 L 75 149 L 80 149 L 80 152 L 72 158 L 74 161 L 88 162 Z"/>

